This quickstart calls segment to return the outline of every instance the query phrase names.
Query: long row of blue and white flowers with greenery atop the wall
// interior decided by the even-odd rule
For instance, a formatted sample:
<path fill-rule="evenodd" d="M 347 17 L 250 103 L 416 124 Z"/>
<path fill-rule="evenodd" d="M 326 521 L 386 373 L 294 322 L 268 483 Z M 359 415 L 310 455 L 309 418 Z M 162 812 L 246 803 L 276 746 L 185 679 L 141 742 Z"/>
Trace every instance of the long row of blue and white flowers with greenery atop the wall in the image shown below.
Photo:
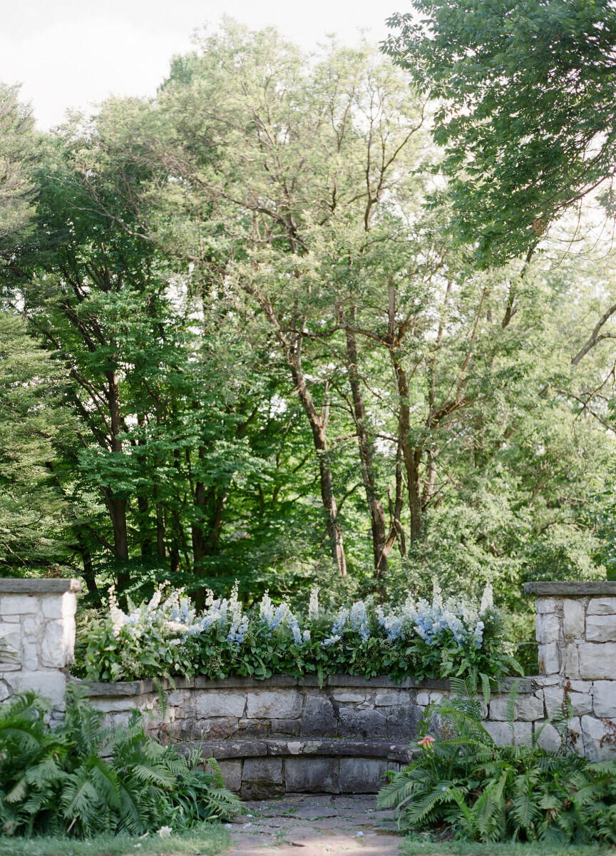
<path fill-rule="evenodd" d="M 237 584 L 229 597 L 208 591 L 198 612 L 183 590 L 164 583 L 149 602 L 129 601 L 127 611 L 111 588 L 109 608 L 88 630 L 79 672 L 90 680 L 386 673 L 397 681 L 473 675 L 485 683 L 521 672 L 491 586 L 478 603 L 443 599 L 435 585 L 431 601 L 409 594 L 395 608 L 368 598 L 336 611 L 323 609 L 315 588 L 301 613 L 287 600 L 272 603 L 267 592 L 245 611 Z"/>

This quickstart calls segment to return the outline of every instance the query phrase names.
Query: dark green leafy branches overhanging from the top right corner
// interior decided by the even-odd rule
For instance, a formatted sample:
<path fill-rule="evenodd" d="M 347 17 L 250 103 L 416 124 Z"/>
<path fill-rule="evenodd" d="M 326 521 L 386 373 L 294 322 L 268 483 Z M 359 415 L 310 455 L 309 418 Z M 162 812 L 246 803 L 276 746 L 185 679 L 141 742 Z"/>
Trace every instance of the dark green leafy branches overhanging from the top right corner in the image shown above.
<path fill-rule="evenodd" d="M 438 101 L 456 227 L 484 265 L 536 245 L 601 187 L 613 212 L 616 6 L 416 0 L 383 45 Z M 419 21 L 418 16 L 424 15 Z"/>

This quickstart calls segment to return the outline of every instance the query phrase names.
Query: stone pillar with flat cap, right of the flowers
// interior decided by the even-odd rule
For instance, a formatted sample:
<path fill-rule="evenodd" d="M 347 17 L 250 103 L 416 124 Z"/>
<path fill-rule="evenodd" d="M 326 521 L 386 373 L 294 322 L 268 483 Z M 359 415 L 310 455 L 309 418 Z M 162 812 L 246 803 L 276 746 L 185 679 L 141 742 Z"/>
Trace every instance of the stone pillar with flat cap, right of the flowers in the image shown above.
<path fill-rule="evenodd" d="M 616 753 L 616 582 L 532 582 L 546 712 L 572 704 L 583 752 Z"/>

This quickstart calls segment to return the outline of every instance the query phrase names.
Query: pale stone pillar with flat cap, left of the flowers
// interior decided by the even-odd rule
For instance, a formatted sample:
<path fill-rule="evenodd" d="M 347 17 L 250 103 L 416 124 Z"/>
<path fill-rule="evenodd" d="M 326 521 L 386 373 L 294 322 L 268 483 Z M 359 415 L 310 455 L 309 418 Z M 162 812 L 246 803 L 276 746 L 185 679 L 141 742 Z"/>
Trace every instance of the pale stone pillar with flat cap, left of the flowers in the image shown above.
<path fill-rule="evenodd" d="M 33 690 L 62 709 L 79 580 L 0 580 L 0 702 Z"/>

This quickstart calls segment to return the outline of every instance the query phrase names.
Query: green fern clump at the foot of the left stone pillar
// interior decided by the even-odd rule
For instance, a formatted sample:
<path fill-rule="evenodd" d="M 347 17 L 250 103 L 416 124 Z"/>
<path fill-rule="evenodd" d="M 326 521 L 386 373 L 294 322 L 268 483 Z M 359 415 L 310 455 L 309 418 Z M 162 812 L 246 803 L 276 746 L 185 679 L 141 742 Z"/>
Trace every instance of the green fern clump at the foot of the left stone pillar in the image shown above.
<path fill-rule="evenodd" d="M 33 693 L 0 709 L 4 835 L 141 835 L 240 811 L 240 800 L 222 788 L 216 762 L 205 772 L 198 752 L 162 746 L 145 734 L 139 714 L 127 728 L 101 728 L 103 715 L 74 687 L 57 728 L 46 724 L 46 712 Z"/>

